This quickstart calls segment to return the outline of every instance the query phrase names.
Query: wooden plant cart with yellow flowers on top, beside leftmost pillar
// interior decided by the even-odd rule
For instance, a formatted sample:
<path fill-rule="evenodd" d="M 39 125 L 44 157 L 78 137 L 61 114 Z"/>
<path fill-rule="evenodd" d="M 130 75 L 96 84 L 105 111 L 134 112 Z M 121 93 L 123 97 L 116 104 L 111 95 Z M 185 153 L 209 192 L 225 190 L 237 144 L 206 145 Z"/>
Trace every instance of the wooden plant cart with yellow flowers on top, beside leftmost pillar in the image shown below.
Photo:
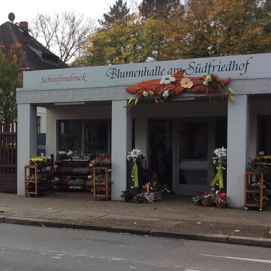
<path fill-rule="evenodd" d="M 44 193 L 44 192 L 50 192 L 52 193 L 52 180 L 51 180 L 51 185 L 47 188 L 47 189 L 43 189 L 40 190 L 38 189 L 38 185 L 40 183 L 45 183 L 45 182 L 49 182 L 50 180 L 46 179 L 46 180 L 41 180 L 38 182 L 38 170 L 41 170 L 42 168 L 46 168 L 46 167 L 50 167 L 51 169 L 51 165 L 27 165 L 25 166 L 25 197 L 27 197 L 28 195 L 35 195 L 35 197 L 38 197 L 38 194 L 40 193 Z M 30 169 L 34 170 L 35 174 L 35 180 L 27 180 L 27 174 L 26 174 L 26 170 Z M 27 191 L 27 183 L 34 183 L 35 184 L 35 191 Z"/>

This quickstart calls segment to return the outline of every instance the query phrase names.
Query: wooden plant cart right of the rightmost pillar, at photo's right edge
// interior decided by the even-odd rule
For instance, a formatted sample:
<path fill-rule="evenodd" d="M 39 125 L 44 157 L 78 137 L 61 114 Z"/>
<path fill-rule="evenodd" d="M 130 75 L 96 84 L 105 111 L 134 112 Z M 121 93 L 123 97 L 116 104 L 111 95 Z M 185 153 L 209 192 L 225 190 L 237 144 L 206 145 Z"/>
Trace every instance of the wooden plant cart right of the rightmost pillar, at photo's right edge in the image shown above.
<path fill-rule="evenodd" d="M 260 189 L 259 190 L 249 190 L 248 185 L 253 183 L 254 181 L 260 179 Z M 259 210 L 263 210 L 263 185 L 264 185 L 264 174 L 263 173 L 255 173 L 255 172 L 245 172 L 245 191 L 244 191 L 244 208 L 248 210 L 248 207 L 259 207 Z M 247 203 L 252 194 L 257 194 L 260 197 L 259 204 L 251 204 Z"/>

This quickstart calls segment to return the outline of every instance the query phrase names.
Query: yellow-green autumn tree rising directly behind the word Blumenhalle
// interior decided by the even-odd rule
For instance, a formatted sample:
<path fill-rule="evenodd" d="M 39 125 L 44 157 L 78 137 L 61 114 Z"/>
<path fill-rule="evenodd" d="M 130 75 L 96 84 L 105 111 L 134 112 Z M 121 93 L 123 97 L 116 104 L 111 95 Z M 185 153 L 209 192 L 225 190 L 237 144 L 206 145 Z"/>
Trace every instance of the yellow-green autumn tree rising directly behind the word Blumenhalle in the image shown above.
<path fill-rule="evenodd" d="M 145 62 L 152 57 L 155 21 L 132 15 L 98 30 L 84 45 L 84 56 L 74 66 Z"/>

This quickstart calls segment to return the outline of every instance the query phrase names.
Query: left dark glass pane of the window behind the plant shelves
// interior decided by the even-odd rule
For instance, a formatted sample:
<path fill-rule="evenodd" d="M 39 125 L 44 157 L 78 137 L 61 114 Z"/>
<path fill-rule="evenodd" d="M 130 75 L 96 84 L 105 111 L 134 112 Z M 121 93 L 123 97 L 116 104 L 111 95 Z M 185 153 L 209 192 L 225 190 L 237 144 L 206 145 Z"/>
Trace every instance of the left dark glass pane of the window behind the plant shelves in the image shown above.
<path fill-rule="evenodd" d="M 60 150 L 82 152 L 82 121 L 60 121 Z"/>

